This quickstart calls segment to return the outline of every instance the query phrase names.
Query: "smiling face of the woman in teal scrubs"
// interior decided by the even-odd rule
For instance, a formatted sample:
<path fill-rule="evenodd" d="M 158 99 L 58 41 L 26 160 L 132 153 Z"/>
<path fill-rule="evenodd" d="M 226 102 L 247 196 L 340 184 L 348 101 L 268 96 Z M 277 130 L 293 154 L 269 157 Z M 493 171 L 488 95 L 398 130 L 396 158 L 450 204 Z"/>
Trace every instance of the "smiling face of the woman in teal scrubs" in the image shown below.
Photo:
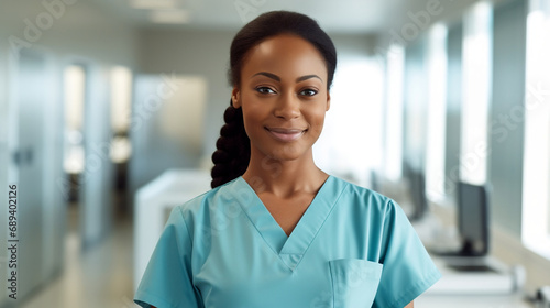
<path fill-rule="evenodd" d="M 310 153 L 330 107 L 327 77 L 321 54 L 299 36 L 279 34 L 249 51 L 232 99 L 252 154 L 289 161 Z"/>

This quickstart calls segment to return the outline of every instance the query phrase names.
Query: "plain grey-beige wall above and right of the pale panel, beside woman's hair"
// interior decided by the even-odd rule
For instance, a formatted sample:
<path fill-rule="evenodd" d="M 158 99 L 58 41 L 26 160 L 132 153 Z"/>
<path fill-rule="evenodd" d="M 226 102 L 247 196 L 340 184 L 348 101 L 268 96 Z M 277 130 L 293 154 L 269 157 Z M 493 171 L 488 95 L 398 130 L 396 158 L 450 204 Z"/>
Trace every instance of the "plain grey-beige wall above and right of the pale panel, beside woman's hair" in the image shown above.
<path fill-rule="evenodd" d="M 140 36 L 141 73 L 175 73 L 206 79 L 205 147 L 201 151 L 208 157 L 216 150 L 223 111 L 231 98 L 227 69 L 229 47 L 234 34 L 221 31 L 146 30 Z"/>

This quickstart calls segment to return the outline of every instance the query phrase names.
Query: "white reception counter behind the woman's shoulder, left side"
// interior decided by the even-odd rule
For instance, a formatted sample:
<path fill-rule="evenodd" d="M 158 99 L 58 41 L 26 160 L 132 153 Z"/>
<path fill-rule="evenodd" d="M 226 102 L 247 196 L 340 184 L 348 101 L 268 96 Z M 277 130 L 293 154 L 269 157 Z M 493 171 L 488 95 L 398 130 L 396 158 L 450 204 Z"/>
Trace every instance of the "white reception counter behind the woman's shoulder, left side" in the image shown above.
<path fill-rule="evenodd" d="M 134 208 L 134 292 L 147 267 L 168 215 L 177 205 L 210 189 L 210 172 L 169 169 L 135 194 Z"/>

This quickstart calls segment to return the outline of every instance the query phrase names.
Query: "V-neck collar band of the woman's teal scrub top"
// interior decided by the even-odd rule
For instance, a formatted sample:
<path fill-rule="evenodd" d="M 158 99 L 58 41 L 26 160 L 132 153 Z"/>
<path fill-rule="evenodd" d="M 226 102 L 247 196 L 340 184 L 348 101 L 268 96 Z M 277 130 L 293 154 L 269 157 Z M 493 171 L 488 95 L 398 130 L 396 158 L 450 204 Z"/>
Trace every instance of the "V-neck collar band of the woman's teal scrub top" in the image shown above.
<path fill-rule="evenodd" d="M 272 251 L 290 268 L 295 270 L 315 237 L 321 229 L 343 190 L 343 182 L 333 176 L 324 180 L 290 235 L 273 218 L 272 213 L 244 178 L 233 183 L 234 197 L 260 235 Z"/>

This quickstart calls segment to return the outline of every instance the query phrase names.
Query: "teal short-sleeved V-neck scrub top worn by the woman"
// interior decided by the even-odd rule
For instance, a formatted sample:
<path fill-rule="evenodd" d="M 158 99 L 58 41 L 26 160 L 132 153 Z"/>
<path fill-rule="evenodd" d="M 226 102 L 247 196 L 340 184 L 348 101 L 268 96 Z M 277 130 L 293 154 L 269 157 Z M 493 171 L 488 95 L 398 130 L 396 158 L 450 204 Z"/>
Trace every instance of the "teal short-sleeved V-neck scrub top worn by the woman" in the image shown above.
<path fill-rule="evenodd" d="M 433 265 L 394 200 L 329 176 L 289 237 L 242 178 L 172 210 L 142 307 L 405 307 Z"/>

